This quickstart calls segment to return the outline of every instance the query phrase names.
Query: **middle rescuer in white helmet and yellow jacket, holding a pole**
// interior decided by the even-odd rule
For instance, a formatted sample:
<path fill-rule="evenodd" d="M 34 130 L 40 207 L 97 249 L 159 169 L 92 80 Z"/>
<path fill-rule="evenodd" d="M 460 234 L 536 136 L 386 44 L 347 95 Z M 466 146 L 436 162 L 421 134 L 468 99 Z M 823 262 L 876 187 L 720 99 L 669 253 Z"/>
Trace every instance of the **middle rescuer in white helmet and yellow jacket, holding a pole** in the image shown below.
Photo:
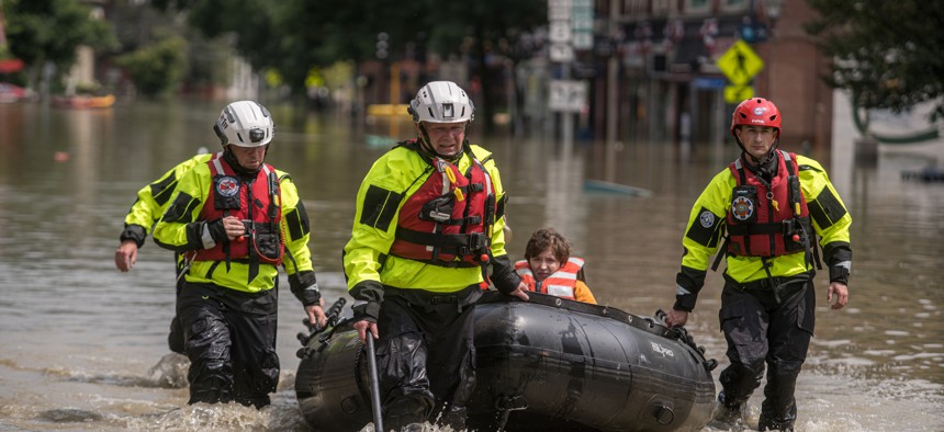
<path fill-rule="evenodd" d="M 473 309 L 492 283 L 527 299 L 505 251 L 505 192 L 491 154 L 465 139 L 472 101 L 453 82 L 411 102 L 419 137 L 378 159 L 345 247 L 355 328 L 378 338 L 385 429 L 437 419 L 464 430 L 475 384 Z"/>

